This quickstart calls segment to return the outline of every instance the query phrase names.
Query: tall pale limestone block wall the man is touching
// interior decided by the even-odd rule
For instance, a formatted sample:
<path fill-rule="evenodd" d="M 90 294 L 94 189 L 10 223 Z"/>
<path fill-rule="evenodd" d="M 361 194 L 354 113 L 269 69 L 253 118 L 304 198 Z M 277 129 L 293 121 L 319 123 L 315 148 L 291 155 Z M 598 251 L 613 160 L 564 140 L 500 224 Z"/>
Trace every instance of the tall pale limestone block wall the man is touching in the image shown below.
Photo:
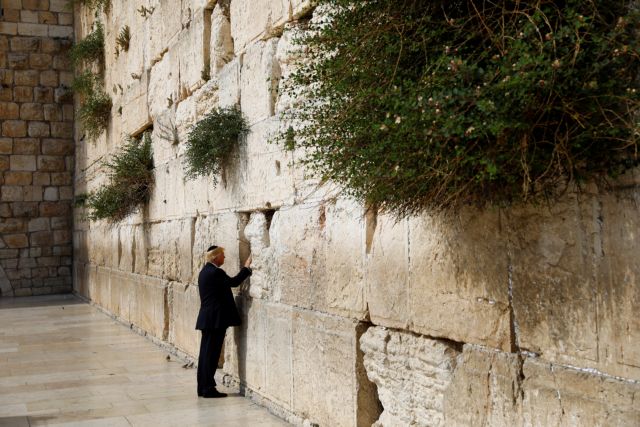
<path fill-rule="evenodd" d="M 115 226 L 75 211 L 75 290 L 195 356 L 205 249 L 224 246 L 230 274 L 253 252 L 224 371 L 296 424 L 640 424 L 638 171 L 554 206 L 366 211 L 268 143 L 295 107 L 278 90 L 303 54 L 291 38 L 316 15 L 299 0 L 113 0 L 97 15 L 114 107 L 98 141 L 77 129 L 76 191 L 146 129 L 155 187 Z M 94 14 L 76 18 L 83 37 Z M 221 183 L 185 182 L 190 126 L 234 104 L 251 132 Z"/>

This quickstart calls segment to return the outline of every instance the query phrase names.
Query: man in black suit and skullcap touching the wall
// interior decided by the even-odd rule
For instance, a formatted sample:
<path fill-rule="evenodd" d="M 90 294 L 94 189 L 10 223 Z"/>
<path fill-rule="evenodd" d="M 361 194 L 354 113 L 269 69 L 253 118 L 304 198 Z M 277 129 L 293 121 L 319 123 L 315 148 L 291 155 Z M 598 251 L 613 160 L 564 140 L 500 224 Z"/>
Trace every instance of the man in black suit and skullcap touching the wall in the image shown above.
<path fill-rule="evenodd" d="M 218 367 L 227 328 L 240 325 L 240 315 L 231 288 L 239 286 L 251 276 L 251 257 L 235 277 L 229 277 L 220 268 L 224 264 L 224 248 L 209 247 L 205 259 L 207 262 L 198 276 L 200 312 L 196 329 L 202 331 L 198 357 L 198 396 L 225 397 L 225 393 L 216 390 L 213 376 Z"/>

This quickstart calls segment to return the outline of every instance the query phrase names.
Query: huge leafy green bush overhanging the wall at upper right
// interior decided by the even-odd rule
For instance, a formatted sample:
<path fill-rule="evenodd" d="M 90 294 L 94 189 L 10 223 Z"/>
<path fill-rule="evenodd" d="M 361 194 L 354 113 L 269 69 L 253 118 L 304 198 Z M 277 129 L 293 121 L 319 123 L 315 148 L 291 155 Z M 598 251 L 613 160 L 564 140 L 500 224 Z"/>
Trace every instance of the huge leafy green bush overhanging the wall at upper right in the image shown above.
<path fill-rule="evenodd" d="M 399 216 L 616 175 L 638 164 L 631 3 L 319 0 L 280 140 Z"/>

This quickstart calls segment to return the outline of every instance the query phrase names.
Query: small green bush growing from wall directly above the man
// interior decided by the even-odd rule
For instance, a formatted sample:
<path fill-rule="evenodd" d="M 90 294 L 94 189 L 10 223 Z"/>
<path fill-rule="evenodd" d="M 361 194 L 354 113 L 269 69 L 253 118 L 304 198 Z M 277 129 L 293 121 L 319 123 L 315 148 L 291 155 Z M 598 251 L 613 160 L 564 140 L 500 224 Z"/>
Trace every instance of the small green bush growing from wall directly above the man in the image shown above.
<path fill-rule="evenodd" d="M 249 126 L 237 107 L 219 108 L 196 123 L 186 142 L 185 176 L 213 176 L 214 184 Z"/>

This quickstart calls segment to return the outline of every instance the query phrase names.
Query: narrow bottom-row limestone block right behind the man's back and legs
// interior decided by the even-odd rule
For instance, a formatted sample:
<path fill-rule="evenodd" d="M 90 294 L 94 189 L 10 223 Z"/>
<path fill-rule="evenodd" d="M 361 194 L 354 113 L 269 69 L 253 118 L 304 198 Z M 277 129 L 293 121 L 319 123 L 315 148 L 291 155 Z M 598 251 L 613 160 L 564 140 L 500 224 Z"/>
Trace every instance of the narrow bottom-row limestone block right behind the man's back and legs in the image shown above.
<path fill-rule="evenodd" d="M 200 309 L 198 287 L 178 282 L 171 283 L 170 302 L 169 341 L 180 350 L 197 356 L 200 351 L 200 333 L 195 329 Z"/>

